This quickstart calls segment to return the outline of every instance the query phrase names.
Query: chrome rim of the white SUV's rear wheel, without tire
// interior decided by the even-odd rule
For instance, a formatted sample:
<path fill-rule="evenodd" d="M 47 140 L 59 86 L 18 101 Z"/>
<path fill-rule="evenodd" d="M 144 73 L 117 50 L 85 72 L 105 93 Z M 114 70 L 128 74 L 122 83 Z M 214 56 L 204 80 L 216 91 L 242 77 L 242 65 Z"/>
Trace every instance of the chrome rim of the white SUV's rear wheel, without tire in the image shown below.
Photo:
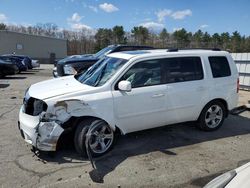
<path fill-rule="evenodd" d="M 223 110 L 219 105 L 212 105 L 206 112 L 205 123 L 209 128 L 216 128 L 223 119 Z"/>

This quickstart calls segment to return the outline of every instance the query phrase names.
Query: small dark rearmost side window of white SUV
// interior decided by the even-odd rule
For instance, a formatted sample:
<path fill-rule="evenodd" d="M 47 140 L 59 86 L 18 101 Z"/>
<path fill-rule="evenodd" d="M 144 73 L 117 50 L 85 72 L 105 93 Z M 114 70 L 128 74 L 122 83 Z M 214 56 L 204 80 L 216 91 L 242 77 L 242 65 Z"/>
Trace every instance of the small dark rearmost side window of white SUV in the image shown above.
<path fill-rule="evenodd" d="M 214 78 L 226 77 L 231 75 L 228 60 L 224 56 L 208 57 Z"/>

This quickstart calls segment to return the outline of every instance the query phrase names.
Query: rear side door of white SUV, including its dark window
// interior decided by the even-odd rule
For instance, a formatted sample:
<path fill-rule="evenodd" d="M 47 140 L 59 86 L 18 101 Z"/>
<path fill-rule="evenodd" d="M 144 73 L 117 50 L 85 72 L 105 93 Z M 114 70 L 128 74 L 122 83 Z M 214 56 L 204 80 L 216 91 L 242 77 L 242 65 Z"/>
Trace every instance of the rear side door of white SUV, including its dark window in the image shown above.
<path fill-rule="evenodd" d="M 196 120 L 208 98 L 208 87 L 200 57 L 164 60 L 166 72 L 166 123 Z"/>

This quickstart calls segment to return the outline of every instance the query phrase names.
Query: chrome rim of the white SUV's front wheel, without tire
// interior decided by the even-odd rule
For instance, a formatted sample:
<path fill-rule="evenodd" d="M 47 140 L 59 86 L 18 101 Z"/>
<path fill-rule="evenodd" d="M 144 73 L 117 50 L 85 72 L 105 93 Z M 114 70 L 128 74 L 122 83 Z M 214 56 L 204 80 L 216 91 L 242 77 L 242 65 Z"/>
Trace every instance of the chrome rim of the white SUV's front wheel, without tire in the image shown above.
<path fill-rule="evenodd" d="M 114 133 L 104 122 L 97 124 L 91 131 L 89 147 L 94 153 L 104 153 L 113 143 Z"/>

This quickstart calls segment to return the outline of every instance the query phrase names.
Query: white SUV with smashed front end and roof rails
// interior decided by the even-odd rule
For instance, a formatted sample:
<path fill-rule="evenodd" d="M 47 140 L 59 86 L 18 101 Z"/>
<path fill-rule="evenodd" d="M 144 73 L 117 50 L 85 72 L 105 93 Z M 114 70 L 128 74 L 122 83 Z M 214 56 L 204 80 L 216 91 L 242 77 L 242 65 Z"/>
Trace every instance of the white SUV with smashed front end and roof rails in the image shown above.
<path fill-rule="evenodd" d="M 111 149 L 122 134 L 186 121 L 218 129 L 238 101 L 238 72 L 228 52 L 150 50 L 107 55 L 84 74 L 43 81 L 26 92 L 19 114 L 25 141 L 55 151 L 74 131 L 77 152 Z"/>

